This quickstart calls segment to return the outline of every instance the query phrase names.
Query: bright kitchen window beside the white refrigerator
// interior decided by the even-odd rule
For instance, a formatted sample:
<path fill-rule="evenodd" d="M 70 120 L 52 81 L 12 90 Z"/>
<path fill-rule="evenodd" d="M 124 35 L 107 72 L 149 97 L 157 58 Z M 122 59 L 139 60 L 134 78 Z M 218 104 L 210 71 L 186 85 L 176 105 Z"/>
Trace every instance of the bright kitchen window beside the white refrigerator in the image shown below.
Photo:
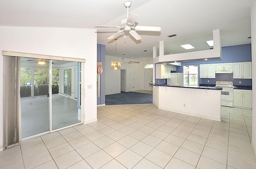
<path fill-rule="evenodd" d="M 184 85 L 198 86 L 198 65 L 183 66 Z"/>

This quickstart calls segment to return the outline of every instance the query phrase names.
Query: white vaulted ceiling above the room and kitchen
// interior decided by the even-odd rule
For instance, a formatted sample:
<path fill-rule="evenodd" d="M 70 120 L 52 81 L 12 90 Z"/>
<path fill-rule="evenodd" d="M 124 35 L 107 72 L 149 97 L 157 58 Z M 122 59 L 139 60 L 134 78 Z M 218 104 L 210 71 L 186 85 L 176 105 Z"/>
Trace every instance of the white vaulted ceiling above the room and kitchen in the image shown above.
<path fill-rule="evenodd" d="M 0 26 L 89 28 L 119 26 L 126 18 L 125 0 L 0 0 Z M 152 58 L 152 47 L 165 42 L 165 53 L 185 51 L 179 45 L 191 43 L 195 50 L 209 47 L 212 30 L 220 29 L 222 46 L 251 43 L 250 0 L 133 0 L 129 13 L 137 14 L 138 26 L 161 26 L 160 32 L 137 31 L 118 37 L 118 57 Z M 106 45 L 106 55 L 115 55 L 115 40 L 107 38 L 120 30 L 97 28 L 98 43 Z M 176 37 L 167 37 L 176 33 Z M 143 52 L 147 50 L 148 52 Z M 126 55 L 122 55 L 126 54 Z"/>

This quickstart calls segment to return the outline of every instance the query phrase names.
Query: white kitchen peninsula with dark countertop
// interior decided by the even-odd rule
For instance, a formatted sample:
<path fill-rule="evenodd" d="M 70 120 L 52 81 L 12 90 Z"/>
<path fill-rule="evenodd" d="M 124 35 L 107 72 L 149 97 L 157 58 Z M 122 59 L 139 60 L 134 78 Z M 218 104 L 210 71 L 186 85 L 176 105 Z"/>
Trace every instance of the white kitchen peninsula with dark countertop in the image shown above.
<path fill-rule="evenodd" d="M 150 85 L 153 86 L 153 104 L 159 109 L 221 121 L 222 88 L 158 83 Z"/>

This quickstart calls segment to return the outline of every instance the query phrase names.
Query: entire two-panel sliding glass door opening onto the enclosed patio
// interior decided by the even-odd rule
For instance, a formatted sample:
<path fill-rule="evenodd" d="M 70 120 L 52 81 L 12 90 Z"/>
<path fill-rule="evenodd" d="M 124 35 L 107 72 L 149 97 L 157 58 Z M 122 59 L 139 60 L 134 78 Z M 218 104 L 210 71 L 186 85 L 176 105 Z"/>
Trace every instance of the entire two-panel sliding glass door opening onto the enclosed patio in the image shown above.
<path fill-rule="evenodd" d="M 22 138 L 81 122 L 78 63 L 21 58 Z"/>

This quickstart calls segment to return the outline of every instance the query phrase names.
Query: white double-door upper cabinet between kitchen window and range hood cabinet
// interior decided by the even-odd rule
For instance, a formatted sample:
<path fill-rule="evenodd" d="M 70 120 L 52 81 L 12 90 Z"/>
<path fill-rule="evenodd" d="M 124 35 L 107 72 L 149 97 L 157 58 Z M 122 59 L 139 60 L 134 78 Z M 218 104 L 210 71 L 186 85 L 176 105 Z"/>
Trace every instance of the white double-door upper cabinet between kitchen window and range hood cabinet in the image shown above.
<path fill-rule="evenodd" d="M 200 78 L 215 78 L 215 64 L 200 64 Z"/>

